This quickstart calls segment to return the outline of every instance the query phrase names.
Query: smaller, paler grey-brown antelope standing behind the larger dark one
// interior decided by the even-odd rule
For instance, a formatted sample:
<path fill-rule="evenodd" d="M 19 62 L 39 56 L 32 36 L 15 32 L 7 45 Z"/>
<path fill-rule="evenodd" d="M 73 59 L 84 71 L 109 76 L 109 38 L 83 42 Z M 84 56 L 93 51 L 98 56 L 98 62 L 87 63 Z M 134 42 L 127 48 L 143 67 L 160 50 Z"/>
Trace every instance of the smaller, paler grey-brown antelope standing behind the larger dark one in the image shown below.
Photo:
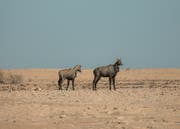
<path fill-rule="evenodd" d="M 58 75 L 59 75 L 59 80 L 58 80 L 58 85 L 59 85 L 59 90 L 62 90 L 62 83 L 65 79 L 67 79 L 67 88 L 68 90 L 69 87 L 69 82 L 72 81 L 72 88 L 74 90 L 74 81 L 77 76 L 77 72 L 81 72 L 81 65 L 76 65 L 73 68 L 70 69 L 63 69 L 59 70 Z"/>

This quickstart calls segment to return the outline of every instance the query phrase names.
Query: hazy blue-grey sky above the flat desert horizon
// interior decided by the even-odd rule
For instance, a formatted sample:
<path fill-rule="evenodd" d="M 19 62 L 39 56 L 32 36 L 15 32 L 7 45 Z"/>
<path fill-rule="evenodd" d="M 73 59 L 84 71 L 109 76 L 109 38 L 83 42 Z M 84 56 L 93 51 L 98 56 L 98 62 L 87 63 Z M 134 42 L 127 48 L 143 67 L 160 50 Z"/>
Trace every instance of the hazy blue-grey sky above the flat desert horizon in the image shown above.
<path fill-rule="evenodd" d="M 0 0 L 0 68 L 180 68 L 180 0 Z"/>

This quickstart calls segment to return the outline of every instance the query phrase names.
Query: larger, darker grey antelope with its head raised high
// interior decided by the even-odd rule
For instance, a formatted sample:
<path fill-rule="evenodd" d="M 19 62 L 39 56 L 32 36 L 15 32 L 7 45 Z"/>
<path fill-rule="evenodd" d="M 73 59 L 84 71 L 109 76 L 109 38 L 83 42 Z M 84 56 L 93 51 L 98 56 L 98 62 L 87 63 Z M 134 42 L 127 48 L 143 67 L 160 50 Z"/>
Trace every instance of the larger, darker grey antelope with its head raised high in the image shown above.
<path fill-rule="evenodd" d="M 93 74 L 94 74 L 93 90 L 96 90 L 96 84 L 101 79 L 101 77 L 109 77 L 109 90 L 111 90 L 112 82 L 113 82 L 114 90 L 116 90 L 115 77 L 119 72 L 120 65 L 123 65 L 121 59 L 117 59 L 114 64 L 95 68 L 93 70 Z"/>

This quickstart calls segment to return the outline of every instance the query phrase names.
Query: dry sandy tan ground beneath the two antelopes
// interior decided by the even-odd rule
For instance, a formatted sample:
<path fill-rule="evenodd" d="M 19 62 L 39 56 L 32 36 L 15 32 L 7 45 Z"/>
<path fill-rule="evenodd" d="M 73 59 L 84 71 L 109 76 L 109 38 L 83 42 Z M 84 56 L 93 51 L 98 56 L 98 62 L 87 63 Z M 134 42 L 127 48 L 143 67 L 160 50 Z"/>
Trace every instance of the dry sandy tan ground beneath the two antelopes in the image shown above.
<path fill-rule="evenodd" d="M 57 72 L 3 70 L 24 81 L 0 84 L 0 129 L 180 129 L 180 69 L 122 70 L 116 91 L 108 79 L 92 91 L 92 70 L 59 91 Z"/>

